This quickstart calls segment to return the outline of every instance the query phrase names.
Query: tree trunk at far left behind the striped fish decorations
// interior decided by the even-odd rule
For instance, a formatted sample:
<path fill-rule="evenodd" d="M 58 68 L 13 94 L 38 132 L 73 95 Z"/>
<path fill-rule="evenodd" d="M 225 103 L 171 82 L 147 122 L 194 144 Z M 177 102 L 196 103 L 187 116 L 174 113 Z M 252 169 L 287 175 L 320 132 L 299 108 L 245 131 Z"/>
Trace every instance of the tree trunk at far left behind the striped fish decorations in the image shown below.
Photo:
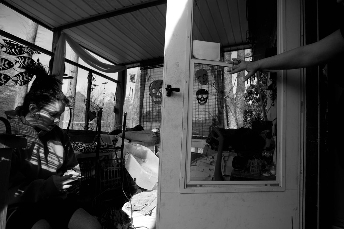
<path fill-rule="evenodd" d="M 33 22 L 33 21 L 29 21 L 29 25 L 28 25 L 28 29 L 26 30 L 26 41 L 35 44 L 35 40 L 36 40 L 36 36 L 37 36 L 37 30 L 38 30 L 38 24 Z M 24 54 L 25 56 L 28 56 L 26 54 Z M 32 57 L 32 56 L 29 56 Z M 22 85 L 20 87 L 18 87 L 18 91 L 16 93 L 15 96 L 15 103 L 14 103 L 14 108 L 22 105 L 24 102 L 24 97 L 26 95 L 26 93 L 28 93 L 29 89 L 28 89 L 28 84 Z"/>

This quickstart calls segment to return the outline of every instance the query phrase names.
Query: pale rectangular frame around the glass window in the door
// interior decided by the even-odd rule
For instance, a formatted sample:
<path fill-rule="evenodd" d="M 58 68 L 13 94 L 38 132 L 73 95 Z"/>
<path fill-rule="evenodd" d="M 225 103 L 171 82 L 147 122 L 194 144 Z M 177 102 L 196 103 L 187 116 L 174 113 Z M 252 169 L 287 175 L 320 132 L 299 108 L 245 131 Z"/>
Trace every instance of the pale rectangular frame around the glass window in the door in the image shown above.
<path fill-rule="evenodd" d="M 192 23 L 192 15 L 188 15 L 188 22 Z M 191 36 L 192 24 L 188 26 Z M 277 53 L 285 51 L 286 21 L 285 0 L 277 0 Z M 286 70 L 260 70 L 277 73 L 277 171 L 276 180 L 264 181 L 190 181 L 191 145 L 192 145 L 192 100 L 194 64 L 210 64 L 228 67 L 226 62 L 192 59 L 192 39 L 190 39 L 189 57 L 186 57 L 186 66 L 189 66 L 189 79 L 184 81 L 184 110 L 182 124 L 182 162 L 180 174 L 180 193 L 217 193 L 217 192 L 263 192 L 285 190 L 285 158 L 286 158 Z"/>

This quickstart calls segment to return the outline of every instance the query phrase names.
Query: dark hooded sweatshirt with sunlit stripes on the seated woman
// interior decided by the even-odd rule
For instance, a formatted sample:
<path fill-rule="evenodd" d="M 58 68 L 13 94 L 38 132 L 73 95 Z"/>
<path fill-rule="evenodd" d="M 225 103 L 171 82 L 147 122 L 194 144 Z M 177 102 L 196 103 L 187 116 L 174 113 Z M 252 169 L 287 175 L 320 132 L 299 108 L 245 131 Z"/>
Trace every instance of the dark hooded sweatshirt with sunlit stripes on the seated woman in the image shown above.
<path fill-rule="evenodd" d="M 62 176 L 67 170 L 80 172 L 69 136 L 58 126 L 37 132 L 21 114 L 21 107 L 5 113 L 12 134 L 26 135 L 28 139 L 26 148 L 15 149 L 12 154 L 9 204 L 65 198 L 52 175 Z"/>

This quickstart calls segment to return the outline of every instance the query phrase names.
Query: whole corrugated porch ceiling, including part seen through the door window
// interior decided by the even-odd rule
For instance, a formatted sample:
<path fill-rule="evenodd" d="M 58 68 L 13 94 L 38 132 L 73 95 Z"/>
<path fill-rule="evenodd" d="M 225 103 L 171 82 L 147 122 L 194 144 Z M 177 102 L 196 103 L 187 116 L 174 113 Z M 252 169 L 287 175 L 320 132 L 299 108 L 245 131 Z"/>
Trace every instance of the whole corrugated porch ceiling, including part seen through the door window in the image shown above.
<path fill-rule="evenodd" d="M 62 30 L 84 48 L 128 68 L 163 61 L 167 0 L 0 0 L 54 31 Z M 247 44 L 244 1 L 207 0 L 195 7 L 197 39 L 225 50 Z M 195 20 L 195 18 L 194 18 Z"/>

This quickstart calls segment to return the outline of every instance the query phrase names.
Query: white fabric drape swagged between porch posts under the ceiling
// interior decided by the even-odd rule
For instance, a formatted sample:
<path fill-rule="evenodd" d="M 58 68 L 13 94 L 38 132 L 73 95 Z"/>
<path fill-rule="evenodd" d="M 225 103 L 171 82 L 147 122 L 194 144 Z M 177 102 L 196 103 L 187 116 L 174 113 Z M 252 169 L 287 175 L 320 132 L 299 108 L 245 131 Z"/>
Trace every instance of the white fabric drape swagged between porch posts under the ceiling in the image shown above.
<path fill-rule="evenodd" d="M 52 73 L 59 75 L 59 79 L 62 81 L 63 79 L 63 68 L 64 68 L 64 62 L 66 57 L 66 41 L 68 42 L 69 46 L 73 49 L 73 51 L 78 55 L 79 58 L 81 58 L 83 61 L 85 61 L 86 64 L 89 66 L 92 66 L 93 68 L 106 72 L 106 73 L 114 73 L 126 70 L 127 68 L 125 66 L 120 65 L 110 65 L 105 64 L 98 59 L 96 59 L 94 56 L 92 56 L 88 51 L 86 51 L 83 47 L 81 47 L 78 43 L 76 43 L 68 34 L 62 33 L 60 37 L 58 38 L 56 50 L 54 53 L 54 63 L 53 63 L 53 70 Z"/>

